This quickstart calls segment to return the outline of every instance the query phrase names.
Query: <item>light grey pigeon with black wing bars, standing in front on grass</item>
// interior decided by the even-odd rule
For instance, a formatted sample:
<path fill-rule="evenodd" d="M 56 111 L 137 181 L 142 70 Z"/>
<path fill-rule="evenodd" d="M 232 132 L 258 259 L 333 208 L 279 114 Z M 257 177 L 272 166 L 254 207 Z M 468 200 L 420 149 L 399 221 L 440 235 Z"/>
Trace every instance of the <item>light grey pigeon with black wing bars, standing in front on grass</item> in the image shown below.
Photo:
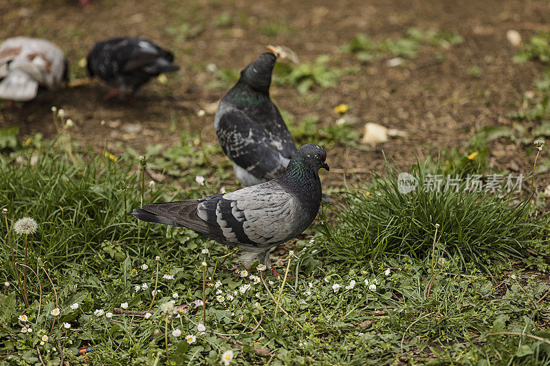
<path fill-rule="evenodd" d="M 132 214 L 143 221 L 187 227 L 240 248 L 246 267 L 258 258 L 270 268 L 270 249 L 298 236 L 316 218 L 321 202 L 318 170 L 329 170 L 326 158 L 321 146 L 307 144 L 276 179 L 198 200 L 151 203 Z"/>

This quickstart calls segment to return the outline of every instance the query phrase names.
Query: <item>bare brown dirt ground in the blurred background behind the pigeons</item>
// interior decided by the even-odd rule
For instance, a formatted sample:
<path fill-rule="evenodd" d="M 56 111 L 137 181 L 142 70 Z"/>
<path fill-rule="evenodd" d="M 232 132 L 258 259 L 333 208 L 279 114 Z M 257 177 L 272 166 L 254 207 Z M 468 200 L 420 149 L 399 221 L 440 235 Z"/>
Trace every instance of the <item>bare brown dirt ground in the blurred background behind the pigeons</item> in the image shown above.
<path fill-rule="evenodd" d="M 109 89 L 96 80 L 87 87 L 52 93 L 42 102 L 2 107 L 0 128 L 17 125 L 23 138 L 34 131 L 54 135 L 50 107 L 55 105 L 76 122 L 76 139 L 93 146 L 102 146 L 105 134 L 137 150 L 155 143 L 170 146 L 179 139 L 169 128 L 174 118 L 178 128 L 201 128 L 203 140 L 215 144 L 212 104 L 226 89 L 205 87 L 214 80 L 206 65 L 242 69 L 265 52 L 263 45 L 276 44 L 294 49 L 303 61 L 329 54 L 331 65 L 360 67 L 360 73 L 342 77 L 337 87 L 312 90 L 316 98 L 302 97 L 292 87 L 272 87 L 274 102 L 296 119 L 317 113 L 321 124 L 333 124 L 338 118 L 333 106 L 345 103 L 360 131 L 366 122 L 377 122 L 408 133 L 366 150 L 333 146 L 328 162 L 336 173 L 323 175 L 331 185 L 342 183 L 342 170 L 351 168 L 361 176 L 380 168 L 382 150 L 397 163 L 408 164 L 415 155 L 437 156 L 444 147 L 463 150 L 465 141 L 483 126 L 511 126 L 507 114 L 534 89 L 533 79 L 543 67 L 512 62 L 517 49 L 506 32 L 518 30 L 525 41 L 550 23 L 546 0 L 92 0 L 86 8 L 76 0 L 0 0 L 0 9 L 0 39 L 26 35 L 54 41 L 65 51 L 72 76 L 84 76 L 78 61 L 96 41 L 114 36 L 145 36 L 172 49 L 181 66 L 168 84 L 153 80 L 134 102 L 104 101 Z M 229 17 L 220 25 L 216 20 L 225 14 Z M 200 29 L 187 38 L 167 30 L 184 23 Z M 261 32 L 274 25 L 282 31 L 272 36 Z M 421 47 L 405 67 L 393 68 L 386 65 L 388 58 L 361 65 L 353 54 L 339 50 L 358 33 L 382 40 L 402 37 L 410 27 L 448 30 L 463 36 L 464 42 L 439 49 L 443 62 L 433 62 L 433 48 Z M 474 65 L 483 70 L 478 78 L 468 72 Z M 196 116 L 201 108 L 210 112 L 205 126 Z M 98 133 L 102 119 L 107 126 Z M 140 124 L 142 130 L 127 133 L 128 124 Z M 494 141 L 490 148 L 494 167 L 529 174 L 534 156 L 525 146 Z M 539 182 L 542 189 L 548 184 L 544 181 Z"/>

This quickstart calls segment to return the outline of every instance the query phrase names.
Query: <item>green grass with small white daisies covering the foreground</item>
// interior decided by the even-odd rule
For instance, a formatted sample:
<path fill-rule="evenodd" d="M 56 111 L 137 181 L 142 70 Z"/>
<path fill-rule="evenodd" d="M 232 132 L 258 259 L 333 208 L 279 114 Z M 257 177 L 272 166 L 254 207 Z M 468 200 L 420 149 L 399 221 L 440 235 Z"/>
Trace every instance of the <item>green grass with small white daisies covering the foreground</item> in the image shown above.
<path fill-rule="evenodd" d="M 14 221 L 30 216 L 39 224 L 28 238 L 28 264 L 38 278 L 28 273 L 30 307 L 25 308 L 2 222 L 0 278 L 12 286 L 0 300 L 0 362 L 40 363 L 40 352 L 45 363 L 58 364 L 61 347 L 72 364 L 214 365 L 232 348 L 228 337 L 244 344 L 233 350 L 234 363 L 243 364 L 549 362 L 547 285 L 518 266 L 503 271 L 509 266 L 503 256 L 523 258 L 523 249 L 548 235 L 547 225 L 537 219 L 520 220 L 529 209 L 525 204 L 490 195 L 404 196 L 396 193 L 395 179 L 378 176 L 368 198 L 349 194 L 344 201 L 352 210 L 335 211 L 330 222 L 324 216 L 292 244 L 292 261 L 282 256 L 279 269 L 289 271 L 281 306 L 291 318 L 283 311 L 275 315 L 270 296 L 277 296 L 282 278 L 255 268 L 252 274 L 261 275 L 265 286 L 259 277 L 236 277 L 241 268 L 225 247 L 129 215 L 142 199 L 140 161 L 131 150 L 114 159 L 72 144 L 69 155 L 65 137 L 62 133 L 53 144 L 30 139 L 24 148 L 0 155 L 0 209 L 8 209 L 18 262 L 23 238 L 12 230 Z M 201 169 L 201 152 L 181 150 L 195 138 L 182 135 L 174 150 L 149 148 L 147 167 Z M 189 161 L 174 160 L 187 154 Z M 415 174 L 425 174 L 422 166 Z M 181 198 L 215 193 L 219 181 L 198 190 L 193 185 L 181 182 L 186 187 Z M 144 201 L 173 199 L 170 187 L 147 187 Z M 441 226 L 432 251 L 435 223 Z M 487 266 L 492 277 L 480 270 Z M 155 288 L 160 293 L 153 297 Z M 206 308 L 195 304 L 199 299 L 206 300 Z M 162 313 L 169 300 L 181 309 L 177 315 Z M 74 303 L 78 308 L 70 307 Z M 58 317 L 54 308 L 61 310 Z M 96 316 L 98 309 L 104 313 Z M 22 312 L 32 333 L 21 333 Z M 109 312 L 113 315 L 106 317 Z M 197 324 L 203 316 L 201 333 Z M 196 341 L 188 343 L 187 334 Z M 93 351 L 74 356 L 82 347 Z"/>

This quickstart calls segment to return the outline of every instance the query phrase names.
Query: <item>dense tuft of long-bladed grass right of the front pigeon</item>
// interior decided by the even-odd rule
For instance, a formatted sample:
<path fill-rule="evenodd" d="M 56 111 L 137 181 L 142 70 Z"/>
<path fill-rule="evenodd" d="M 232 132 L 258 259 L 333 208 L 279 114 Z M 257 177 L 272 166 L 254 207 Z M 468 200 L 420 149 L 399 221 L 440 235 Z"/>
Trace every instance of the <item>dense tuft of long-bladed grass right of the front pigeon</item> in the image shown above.
<path fill-rule="evenodd" d="M 350 262 L 408 255 L 425 263 L 435 249 L 461 268 L 474 264 L 490 271 L 494 260 L 526 258 L 525 249 L 541 240 L 538 233 L 547 224 L 541 218 L 525 220 L 529 198 L 518 201 L 517 179 L 495 178 L 487 192 L 491 176 L 474 183 L 475 177 L 445 175 L 443 170 L 428 174 L 424 163 L 413 165 L 409 173 L 417 187 L 408 194 L 400 192 L 399 172 L 387 165 L 386 174 L 375 174 L 371 185 L 330 210 L 338 220 L 325 214 L 323 247 Z"/>

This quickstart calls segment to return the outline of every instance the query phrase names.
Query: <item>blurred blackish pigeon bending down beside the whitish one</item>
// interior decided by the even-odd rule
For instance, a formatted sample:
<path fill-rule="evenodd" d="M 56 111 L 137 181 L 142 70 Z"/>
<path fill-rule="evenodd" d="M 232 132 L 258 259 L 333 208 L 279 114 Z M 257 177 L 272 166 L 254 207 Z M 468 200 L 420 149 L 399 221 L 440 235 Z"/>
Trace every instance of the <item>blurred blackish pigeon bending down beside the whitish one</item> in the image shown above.
<path fill-rule="evenodd" d="M 174 55 L 144 38 L 112 38 L 96 43 L 87 56 L 89 76 L 115 87 L 111 94 L 133 95 L 153 76 L 179 70 Z"/>

